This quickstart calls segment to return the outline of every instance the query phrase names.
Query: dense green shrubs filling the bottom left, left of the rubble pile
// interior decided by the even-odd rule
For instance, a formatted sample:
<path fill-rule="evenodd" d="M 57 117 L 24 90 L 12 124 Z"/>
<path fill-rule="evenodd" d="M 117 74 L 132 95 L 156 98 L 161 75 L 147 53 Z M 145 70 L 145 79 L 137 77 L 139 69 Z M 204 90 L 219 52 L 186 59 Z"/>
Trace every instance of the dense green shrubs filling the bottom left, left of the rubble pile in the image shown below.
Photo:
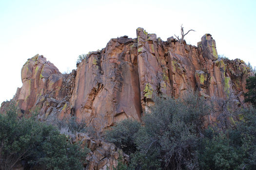
<path fill-rule="evenodd" d="M 34 117 L 19 119 L 13 104 L 0 114 L 0 170 L 11 170 L 19 161 L 26 163 L 26 169 L 82 170 L 88 149 L 71 145 L 57 127 Z"/>

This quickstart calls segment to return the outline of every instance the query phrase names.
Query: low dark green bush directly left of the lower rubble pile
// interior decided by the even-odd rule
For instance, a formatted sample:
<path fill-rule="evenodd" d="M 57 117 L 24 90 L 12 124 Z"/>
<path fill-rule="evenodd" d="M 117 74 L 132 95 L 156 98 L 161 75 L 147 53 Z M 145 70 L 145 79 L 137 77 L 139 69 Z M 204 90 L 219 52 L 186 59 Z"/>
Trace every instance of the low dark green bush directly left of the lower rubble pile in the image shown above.
<path fill-rule="evenodd" d="M 81 161 L 85 161 L 87 148 L 82 149 L 78 144 L 70 145 L 65 135 L 58 131 L 50 131 L 42 143 L 39 164 L 46 170 L 82 170 Z"/>

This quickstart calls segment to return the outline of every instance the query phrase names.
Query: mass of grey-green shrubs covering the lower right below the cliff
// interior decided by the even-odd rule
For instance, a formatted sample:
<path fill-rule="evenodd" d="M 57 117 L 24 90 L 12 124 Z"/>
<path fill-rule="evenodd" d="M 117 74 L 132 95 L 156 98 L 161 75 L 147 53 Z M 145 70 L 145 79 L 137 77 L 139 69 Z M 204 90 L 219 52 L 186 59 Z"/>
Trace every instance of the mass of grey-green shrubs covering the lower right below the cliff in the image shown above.
<path fill-rule="evenodd" d="M 193 93 L 155 97 L 142 124 L 123 120 L 105 138 L 131 152 L 129 170 L 255 170 L 256 110 L 234 113 L 231 101 L 223 102 L 222 117 L 205 129 L 204 118 L 216 112 L 216 101 Z M 234 122 L 223 126 L 224 119 Z"/>

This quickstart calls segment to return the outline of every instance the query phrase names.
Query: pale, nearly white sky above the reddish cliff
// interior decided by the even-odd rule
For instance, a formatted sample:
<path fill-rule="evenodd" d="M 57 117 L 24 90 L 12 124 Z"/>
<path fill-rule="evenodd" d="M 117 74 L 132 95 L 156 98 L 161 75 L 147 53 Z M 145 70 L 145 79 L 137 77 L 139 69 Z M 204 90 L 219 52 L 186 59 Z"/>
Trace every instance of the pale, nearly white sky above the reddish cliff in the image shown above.
<path fill-rule="evenodd" d="M 185 36 L 197 46 L 204 34 L 217 52 L 256 66 L 256 0 L 0 0 L 0 103 L 22 86 L 28 58 L 43 55 L 60 72 L 76 69 L 80 54 L 105 48 L 111 38 L 136 38 L 144 28 L 163 41 Z"/>

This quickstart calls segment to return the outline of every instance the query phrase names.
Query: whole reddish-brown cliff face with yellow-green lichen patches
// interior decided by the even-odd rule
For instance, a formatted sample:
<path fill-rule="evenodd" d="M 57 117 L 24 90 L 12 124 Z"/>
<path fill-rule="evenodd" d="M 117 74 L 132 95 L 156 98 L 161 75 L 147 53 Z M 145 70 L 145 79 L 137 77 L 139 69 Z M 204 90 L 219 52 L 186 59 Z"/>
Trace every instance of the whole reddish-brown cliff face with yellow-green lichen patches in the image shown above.
<path fill-rule="evenodd" d="M 205 98 L 233 94 L 242 103 L 251 74 L 242 60 L 218 59 L 210 34 L 203 35 L 196 47 L 173 37 L 162 41 L 138 28 L 137 38 L 111 39 L 70 74 L 61 74 L 43 56 L 34 56 L 21 69 L 23 86 L 13 100 L 25 114 L 41 108 L 42 120 L 71 114 L 106 127 L 126 118 L 140 120 L 155 94 L 177 98 L 192 89 Z"/>

